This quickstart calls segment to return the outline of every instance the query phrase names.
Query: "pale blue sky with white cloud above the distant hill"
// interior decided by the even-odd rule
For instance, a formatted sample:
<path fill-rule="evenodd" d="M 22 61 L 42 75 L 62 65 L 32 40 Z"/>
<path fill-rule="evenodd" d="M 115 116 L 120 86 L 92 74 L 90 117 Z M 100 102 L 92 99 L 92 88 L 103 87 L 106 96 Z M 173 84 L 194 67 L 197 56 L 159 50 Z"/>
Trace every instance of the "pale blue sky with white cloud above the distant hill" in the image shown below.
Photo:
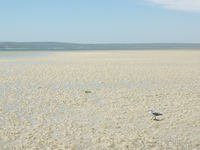
<path fill-rule="evenodd" d="M 200 0 L 0 0 L 0 42 L 200 43 Z"/>

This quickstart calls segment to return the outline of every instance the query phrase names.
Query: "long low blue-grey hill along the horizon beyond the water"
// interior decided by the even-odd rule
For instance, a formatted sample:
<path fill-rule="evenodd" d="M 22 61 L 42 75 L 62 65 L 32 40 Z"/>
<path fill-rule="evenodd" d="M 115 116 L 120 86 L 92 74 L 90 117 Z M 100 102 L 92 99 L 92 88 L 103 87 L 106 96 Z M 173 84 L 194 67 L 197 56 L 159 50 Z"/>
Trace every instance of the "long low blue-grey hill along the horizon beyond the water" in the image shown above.
<path fill-rule="evenodd" d="M 148 50 L 200 49 L 200 43 L 77 44 L 60 42 L 0 42 L 0 50 Z"/>

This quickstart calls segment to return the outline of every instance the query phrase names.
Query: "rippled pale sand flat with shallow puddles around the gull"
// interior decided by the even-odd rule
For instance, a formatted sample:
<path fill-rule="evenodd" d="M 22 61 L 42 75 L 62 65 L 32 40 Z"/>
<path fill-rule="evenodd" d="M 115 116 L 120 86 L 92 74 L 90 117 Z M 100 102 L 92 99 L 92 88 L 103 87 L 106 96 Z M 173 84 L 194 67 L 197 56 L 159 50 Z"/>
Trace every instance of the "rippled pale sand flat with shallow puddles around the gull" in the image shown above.
<path fill-rule="evenodd" d="M 200 149 L 199 110 L 200 51 L 0 59 L 3 150 Z"/>

